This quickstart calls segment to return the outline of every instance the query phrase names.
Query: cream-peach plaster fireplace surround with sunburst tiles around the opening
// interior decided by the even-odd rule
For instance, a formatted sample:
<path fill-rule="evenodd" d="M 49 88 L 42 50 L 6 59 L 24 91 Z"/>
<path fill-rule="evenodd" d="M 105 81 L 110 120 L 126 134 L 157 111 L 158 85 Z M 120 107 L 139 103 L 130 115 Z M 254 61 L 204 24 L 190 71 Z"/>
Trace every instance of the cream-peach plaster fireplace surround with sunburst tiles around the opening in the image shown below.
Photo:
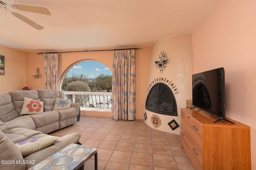
<path fill-rule="evenodd" d="M 159 60 L 161 51 L 166 52 L 169 63 L 166 64 L 165 70 L 160 73 L 160 70 L 155 67 L 154 61 Z M 170 37 L 156 42 L 152 47 L 149 64 L 147 89 L 150 84 L 154 85 L 155 82 L 162 82 L 168 85 L 176 100 L 178 116 L 162 115 L 144 109 L 144 113 L 146 112 L 147 115 L 147 119 L 144 122 L 154 129 L 180 135 L 180 127 L 173 131 L 168 123 L 174 119 L 180 125 L 180 108 L 186 107 L 186 100 L 191 99 L 193 68 L 190 34 Z M 157 81 L 156 79 L 159 79 L 159 77 L 166 78 L 166 81 L 161 80 L 161 78 Z M 152 83 L 153 81 L 154 83 Z M 173 86 L 170 86 L 170 82 Z M 175 89 L 177 90 L 174 91 Z M 146 93 L 144 104 L 146 103 L 147 95 L 148 92 Z M 161 120 L 161 125 L 157 128 L 152 125 L 151 117 L 153 115 L 157 115 Z"/>

